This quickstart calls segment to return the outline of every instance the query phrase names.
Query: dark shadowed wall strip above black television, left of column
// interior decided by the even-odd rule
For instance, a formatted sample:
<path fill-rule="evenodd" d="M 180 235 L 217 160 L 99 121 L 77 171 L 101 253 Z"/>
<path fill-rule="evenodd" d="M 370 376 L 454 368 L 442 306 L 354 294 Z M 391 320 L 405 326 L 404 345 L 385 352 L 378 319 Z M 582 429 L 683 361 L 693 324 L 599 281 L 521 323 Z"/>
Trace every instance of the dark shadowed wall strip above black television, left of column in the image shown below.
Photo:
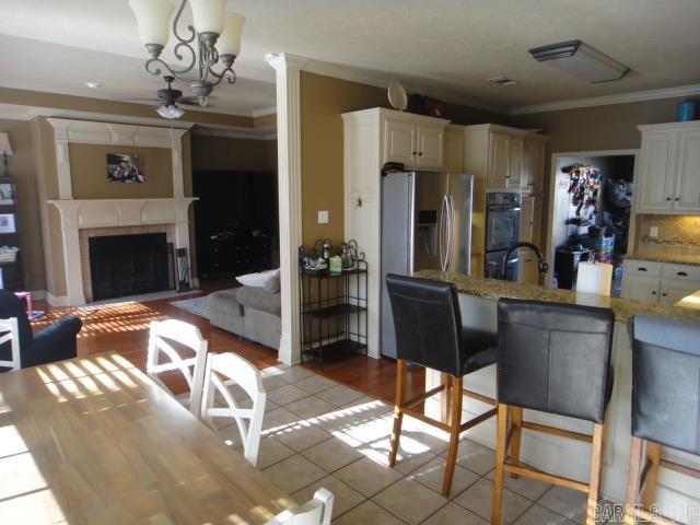
<path fill-rule="evenodd" d="M 277 172 L 277 140 L 192 135 L 192 170 Z"/>

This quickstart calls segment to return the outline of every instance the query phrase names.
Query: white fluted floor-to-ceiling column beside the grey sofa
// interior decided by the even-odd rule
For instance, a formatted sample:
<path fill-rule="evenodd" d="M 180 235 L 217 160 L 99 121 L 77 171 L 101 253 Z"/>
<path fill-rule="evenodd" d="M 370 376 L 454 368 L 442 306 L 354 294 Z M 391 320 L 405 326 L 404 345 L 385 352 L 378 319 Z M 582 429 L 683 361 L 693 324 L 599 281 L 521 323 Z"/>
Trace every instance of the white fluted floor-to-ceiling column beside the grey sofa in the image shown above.
<path fill-rule="evenodd" d="M 277 73 L 277 155 L 279 182 L 280 282 L 282 335 L 279 360 L 301 360 L 299 257 L 302 242 L 302 164 L 300 71 L 308 61 L 288 54 L 265 57 Z"/>

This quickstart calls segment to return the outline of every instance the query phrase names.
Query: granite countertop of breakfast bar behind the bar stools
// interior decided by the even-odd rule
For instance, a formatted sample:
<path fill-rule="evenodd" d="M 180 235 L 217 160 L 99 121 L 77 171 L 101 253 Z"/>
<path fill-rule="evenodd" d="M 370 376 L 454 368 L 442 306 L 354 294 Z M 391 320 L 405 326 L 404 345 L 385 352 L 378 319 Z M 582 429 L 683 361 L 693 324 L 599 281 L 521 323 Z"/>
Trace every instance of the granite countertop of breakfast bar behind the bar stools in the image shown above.
<path fill-rule="evenodd" d="M 485 279 L 481 277 L 467 277 L 463 273 L 443 273 L 439 270 L 421 270 L 413 273 L 423 279 L 435 279 L 452 282 L 460 293 L 486 299 L 526 299 L 545 301 L 549 303 L 580 304 L 585 306 L 599 306 L 612 308 L 615 319 L 629 323 L 637 314 L 663 317 L 668 319 L 685 319 L 700 323 L 700 307 L 684 307 L 679 304 L 688 298 L 668 305 L 662 303 L 648 303 L 631 299 L 616 299 L 595 293 L 581 293 L 572 290 L 549 289 L 537 284 L 523 284 L 520 282 Z M 700 303 L 700 292 L 698 292 Z"/>

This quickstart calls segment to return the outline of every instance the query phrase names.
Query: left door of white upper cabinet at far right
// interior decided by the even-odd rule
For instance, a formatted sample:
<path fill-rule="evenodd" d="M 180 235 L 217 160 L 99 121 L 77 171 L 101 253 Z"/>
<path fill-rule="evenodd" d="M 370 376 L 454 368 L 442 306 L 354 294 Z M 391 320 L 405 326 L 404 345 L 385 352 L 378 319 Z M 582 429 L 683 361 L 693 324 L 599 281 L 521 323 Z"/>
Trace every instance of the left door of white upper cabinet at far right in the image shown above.
<path fill-rule="evenodd" d="M 677 144 L 678 135 L 676 132 L 643 137 L 638 213 L 654 213 L 673 209 Z"/>

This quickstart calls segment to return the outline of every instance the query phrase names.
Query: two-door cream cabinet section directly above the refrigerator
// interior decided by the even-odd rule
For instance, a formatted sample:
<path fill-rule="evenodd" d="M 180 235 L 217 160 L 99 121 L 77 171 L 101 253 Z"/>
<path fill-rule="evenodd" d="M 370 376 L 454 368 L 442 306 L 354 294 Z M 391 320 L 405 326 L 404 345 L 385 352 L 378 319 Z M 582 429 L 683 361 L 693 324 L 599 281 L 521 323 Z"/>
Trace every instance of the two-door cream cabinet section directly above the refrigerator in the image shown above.
<path fill-rule="evenodd" d="M 384 120 L 384 162 L 400 162 L 407 170 L 442 171 L 447 120 L 401 112 L 380 116 Z"/>

